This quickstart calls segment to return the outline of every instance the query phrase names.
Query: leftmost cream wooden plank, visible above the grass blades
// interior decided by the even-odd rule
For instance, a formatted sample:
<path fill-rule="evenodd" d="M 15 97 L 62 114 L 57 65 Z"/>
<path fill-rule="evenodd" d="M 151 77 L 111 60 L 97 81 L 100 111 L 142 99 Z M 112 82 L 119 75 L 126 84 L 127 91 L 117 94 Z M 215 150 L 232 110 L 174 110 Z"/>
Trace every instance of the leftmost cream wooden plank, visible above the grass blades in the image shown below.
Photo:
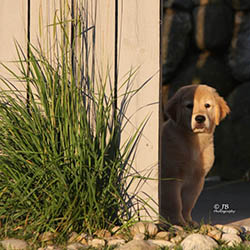
<path fill-rule="evenodd" d="M 0 62 L 4 63 L 11 70 L 18 73 L 16 60 L 18 59 L 15 41 L 26 52 L 27 43 L 27 1 L 26 0 L 1 0 L 0 8 Z M 3 66 L 0 66 L 0 74 L 11 80 Z M 20 90 L 25 90 L 25 85 L 20 82 L 15 82 L 15 85 Z M 4 84 L 0 82 L 0 87 Z"/>

